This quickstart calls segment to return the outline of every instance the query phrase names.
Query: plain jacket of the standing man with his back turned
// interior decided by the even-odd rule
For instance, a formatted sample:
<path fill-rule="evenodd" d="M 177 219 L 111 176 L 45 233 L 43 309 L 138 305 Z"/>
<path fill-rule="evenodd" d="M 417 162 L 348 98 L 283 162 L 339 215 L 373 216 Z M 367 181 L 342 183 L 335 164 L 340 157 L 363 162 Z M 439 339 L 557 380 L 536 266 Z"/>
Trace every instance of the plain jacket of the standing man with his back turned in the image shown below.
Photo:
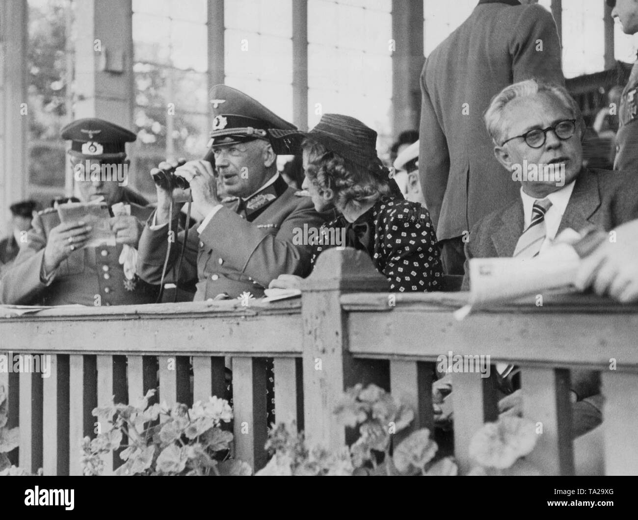
<path fill-rule="evenodd" d="M 440 241 L 463 235 L 518 196 L 516 184 L 503 182 L 483 121 L 493 96 L 530 78 L 565 81 L 552 15 L 512 4 L 481 1 L 421 74 L 420 179 Z"/>

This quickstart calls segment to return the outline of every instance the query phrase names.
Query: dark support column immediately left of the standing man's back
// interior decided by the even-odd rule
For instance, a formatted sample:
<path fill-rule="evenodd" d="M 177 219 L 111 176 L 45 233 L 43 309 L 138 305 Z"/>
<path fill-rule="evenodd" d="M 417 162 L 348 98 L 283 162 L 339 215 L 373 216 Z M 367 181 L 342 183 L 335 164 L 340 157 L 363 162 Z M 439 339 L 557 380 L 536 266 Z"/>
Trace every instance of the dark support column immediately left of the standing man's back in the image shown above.
<path fill-rule="evenodd" d="M 392 1 L 392 131 L 419 130 L 423 57 L 423 2 Z"/>

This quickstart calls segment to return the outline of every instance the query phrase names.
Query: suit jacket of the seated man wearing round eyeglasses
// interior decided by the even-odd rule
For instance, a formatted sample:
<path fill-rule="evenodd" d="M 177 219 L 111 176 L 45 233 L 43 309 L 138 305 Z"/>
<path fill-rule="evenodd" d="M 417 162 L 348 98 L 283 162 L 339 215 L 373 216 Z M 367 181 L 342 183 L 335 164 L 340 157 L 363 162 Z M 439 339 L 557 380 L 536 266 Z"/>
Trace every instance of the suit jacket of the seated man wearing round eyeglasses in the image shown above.
<path fill-rule="evenodd" d="M 634 172 L 582 170 L 561 219 L 557 235 L 567 228 L 580 231 L 595 226 L 605 231 L 638 218 L 638 176 Z M 470 232 L 465 244 L 463 290 L 469 288 L 470 258 L 496 258 L 514 255 L 523 234 L 524 214 L 520 193 L 516 202 L 494 211 Z M 591 371 L 572 371 L 572 389 L 579 397 L 598 392 L 598 375 Z"/>

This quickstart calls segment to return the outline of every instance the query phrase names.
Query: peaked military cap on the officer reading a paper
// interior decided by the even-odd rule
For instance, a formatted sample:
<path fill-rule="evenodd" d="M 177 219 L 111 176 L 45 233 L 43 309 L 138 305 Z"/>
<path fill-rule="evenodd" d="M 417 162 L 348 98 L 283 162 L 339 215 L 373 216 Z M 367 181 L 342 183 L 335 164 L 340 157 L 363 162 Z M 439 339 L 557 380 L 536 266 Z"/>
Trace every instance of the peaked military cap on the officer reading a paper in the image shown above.
<path fill-rule="evenodd" d="M 63 139 L 71 140 L 69 153 L 85 159 L 124 158 L 124 144 L 137 138 L 130 130 L 97 117 L 73 121 L 62 129 L 61 135 Z"/>

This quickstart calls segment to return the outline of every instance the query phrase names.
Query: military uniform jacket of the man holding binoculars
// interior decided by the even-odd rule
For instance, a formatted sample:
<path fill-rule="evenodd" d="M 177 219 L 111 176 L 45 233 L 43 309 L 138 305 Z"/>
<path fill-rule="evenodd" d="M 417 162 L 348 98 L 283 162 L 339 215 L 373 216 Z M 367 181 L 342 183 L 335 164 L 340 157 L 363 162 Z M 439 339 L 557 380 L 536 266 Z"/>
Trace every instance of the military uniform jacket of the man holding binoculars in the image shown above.
<path fill-rule="evenodd" d="M 298 197 L 281 176 L 246 201 L 227 198 L 223 207 L 198 235 L 197 225 L 188 232 L 179 281 L 197 280 L 195 301 L 226 293 L 237 298 L 250 293 L 263 296 L 263 289 L 280 274 L 307 276 L 312 246 L 295 244 L 295 229 L 316 227 L 325 216 L 315 211 L 311 199 Z M 148 283 L 157 284 L 167 253 L 168 226 L 151 229 L 153 217 L 142 232 L 137 272 Z M 172 229 L 177 228 L 177 219 Z M 184 241 L 184 232 L 171 244 L 168 270 L 174 267 Z"/>

